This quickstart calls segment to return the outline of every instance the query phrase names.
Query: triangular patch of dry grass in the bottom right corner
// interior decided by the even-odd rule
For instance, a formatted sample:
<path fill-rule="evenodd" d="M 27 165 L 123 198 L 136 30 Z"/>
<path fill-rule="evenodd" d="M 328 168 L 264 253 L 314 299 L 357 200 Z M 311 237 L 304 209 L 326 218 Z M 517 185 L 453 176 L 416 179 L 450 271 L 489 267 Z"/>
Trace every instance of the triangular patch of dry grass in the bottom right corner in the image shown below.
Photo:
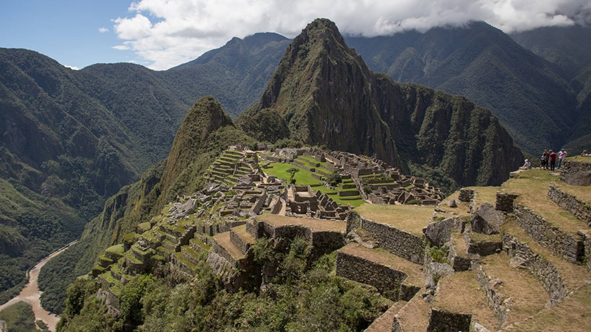
<path fill-rule="evenodd" d="M 591 331 L 591 285 L 584 285 L 560 304 L 545 309 L 508 331 L 587 332 Z"/>

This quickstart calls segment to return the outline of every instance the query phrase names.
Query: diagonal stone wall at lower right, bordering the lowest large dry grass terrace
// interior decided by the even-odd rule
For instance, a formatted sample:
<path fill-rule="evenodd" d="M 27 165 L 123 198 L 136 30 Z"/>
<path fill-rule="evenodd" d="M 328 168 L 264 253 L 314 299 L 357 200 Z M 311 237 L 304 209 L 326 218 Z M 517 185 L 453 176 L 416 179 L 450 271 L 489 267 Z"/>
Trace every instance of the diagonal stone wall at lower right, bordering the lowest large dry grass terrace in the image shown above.
<path fill-rule="evenodd" d="M 545 291 L 550 294 L 552 300 L 562 300 L 569 294 L 557 269 L 551 263 L 545 261 L 540 255 L 532 252 L 525 243 L 521 243 L 515 237 L 504 234 L 503 250 L 511 257 L 518 256 L 525 260 L 527 268 L 538 278 Z"/>

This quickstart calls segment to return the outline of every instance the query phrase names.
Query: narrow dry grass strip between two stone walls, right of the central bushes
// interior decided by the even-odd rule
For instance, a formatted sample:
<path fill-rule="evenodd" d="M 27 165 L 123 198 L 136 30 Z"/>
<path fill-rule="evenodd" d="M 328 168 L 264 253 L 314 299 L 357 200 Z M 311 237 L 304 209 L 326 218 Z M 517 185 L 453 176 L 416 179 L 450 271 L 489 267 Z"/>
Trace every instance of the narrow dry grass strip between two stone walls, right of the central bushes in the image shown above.
<path fill-rule="evenodd" d="M 378 263 L 379 265 L 388 266 L 396 271 L 404 272 L 407 275 L 407 278 L 404 280 L 405 282 L 420 287 L 424 285 L 425 279 L 421 265 L 412 263 L 396 255 L 392 255 L 392 253 L 389 253 L 384 249 L 369 249 L 358 243 L 349 243 L 339 249 L 339 252 L 365 258 L 368 261 Z"/>

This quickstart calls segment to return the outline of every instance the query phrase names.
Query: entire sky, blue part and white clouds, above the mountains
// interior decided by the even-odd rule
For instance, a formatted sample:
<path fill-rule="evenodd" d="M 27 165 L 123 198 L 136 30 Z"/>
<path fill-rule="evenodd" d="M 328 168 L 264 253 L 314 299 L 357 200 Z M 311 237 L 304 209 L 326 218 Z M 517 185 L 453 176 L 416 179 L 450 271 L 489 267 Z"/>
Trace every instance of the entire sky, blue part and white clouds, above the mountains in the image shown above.
<path fill-rule="evenodd" d="M 132 62 L 165 70 L 232 37 L 295 37 L 314 18 L 350 35 L 486 21 L 506 33 L 591 24 L 591 0 L 1 0 L 0 47 L 38 51 L 72 69 Z"/>

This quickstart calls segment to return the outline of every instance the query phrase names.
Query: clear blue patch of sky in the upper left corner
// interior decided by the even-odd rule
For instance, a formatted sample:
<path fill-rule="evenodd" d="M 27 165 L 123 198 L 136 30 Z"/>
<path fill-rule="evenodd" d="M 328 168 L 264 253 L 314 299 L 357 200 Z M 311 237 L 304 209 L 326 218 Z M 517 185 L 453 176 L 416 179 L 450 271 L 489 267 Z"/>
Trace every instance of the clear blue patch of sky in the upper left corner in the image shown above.
<path fill-rule="evenodd" d="M 66 66 L 143 61 L 121 44 L 111 19 L 129 15 L 131 1 L 22 1 L 0 4 L 0 47 L 38 51 Z M 108 28 L 101 33 L 99 28 Z"/>

